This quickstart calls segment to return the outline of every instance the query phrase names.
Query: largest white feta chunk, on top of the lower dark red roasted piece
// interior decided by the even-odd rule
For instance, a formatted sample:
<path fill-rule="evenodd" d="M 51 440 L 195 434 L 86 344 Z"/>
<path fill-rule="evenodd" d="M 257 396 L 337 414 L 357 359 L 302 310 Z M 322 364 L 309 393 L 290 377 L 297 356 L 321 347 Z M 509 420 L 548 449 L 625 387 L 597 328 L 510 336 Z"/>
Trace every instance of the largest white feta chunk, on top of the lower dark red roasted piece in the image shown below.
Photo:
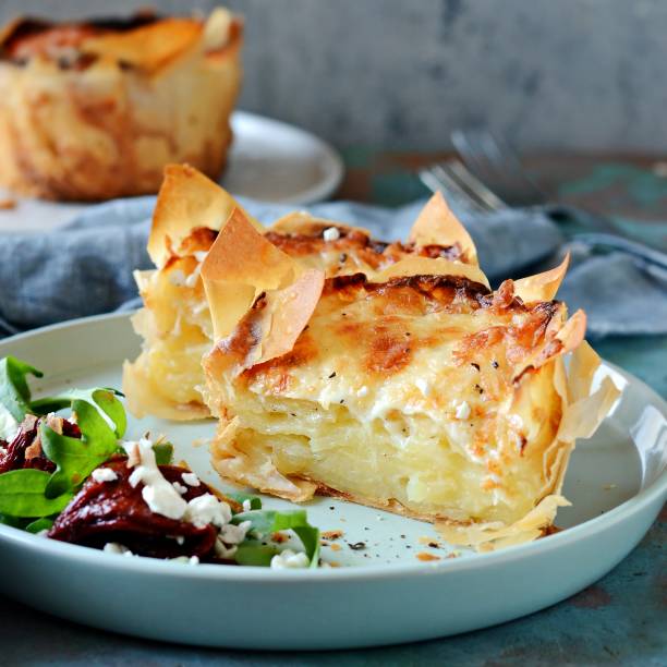
<path fill-rule="evenodd" d="M 134 451 L 136 442 L 123 445 L 128 453 Z M 165 480 L 155 460 L 153 442 L 146 438 L 138 441 L 140 464 L 130 475 L 130 486 L 135 487 L 140 482 L 144 484 L 142 498 L 150 511 L 169 519 L 181 519 L 187 509 L 187 504 L 177 489 Z"/>

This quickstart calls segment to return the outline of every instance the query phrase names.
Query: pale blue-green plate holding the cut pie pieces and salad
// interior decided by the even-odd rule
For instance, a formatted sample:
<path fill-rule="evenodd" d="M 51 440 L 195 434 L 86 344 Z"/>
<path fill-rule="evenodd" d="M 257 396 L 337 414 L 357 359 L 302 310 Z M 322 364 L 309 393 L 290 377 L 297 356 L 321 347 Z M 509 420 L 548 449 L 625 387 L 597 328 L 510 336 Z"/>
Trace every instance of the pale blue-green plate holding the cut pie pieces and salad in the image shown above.
<path fill-rule="evenodd" d="M 126 315 L 57 325 L 0 342 L 47 373 L 38 391 L 119 386 L 138 351 Z M 245 648 L 332 648 L 444 636 L 551 605 L 597 580 L 641 539 L 667 496 L 667 405 L 639 380 L 605 366 L 623 395 L 598 434 L 580 441 L 566 481 L 567 530 L 492 554 L 429 549 L 430 525 L 319 498 L 322 530 L 342 529 L 343 567 L 276 571 L 126 558 L 0 526 L 0 590 L 74 621 L 146 638 Z M 167 433 L 177 459 L 217 483 L 205 447 L 210 421 L 131 421 L 129 436 Z M 636 445 L 632 440 L 632 436 Z M 222 486 L 222 485 L 219 485 Z M 268 507 L 289 504 L 266 499 Z M 364 542 L 352 550 L 348 543 Z M 415 558 L 428 550 L 441 560 Z"/>

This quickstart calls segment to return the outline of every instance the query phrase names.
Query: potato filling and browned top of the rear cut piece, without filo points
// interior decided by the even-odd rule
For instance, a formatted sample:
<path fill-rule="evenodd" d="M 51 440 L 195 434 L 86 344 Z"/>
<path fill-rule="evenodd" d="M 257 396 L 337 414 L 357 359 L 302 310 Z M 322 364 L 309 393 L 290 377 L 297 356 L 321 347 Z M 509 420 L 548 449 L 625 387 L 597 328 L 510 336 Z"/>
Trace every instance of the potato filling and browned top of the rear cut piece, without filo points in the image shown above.
<path fill-rule="evenodd" d="M 413 255 L 448 260 L 461 256 L 456 244 L 383 243 L 365 230 L 304 214 L 291 216 L 289 223 L 284 231 L 268 230 L 265 238 L 304 267 L 324 269 L 328 276 L 376 275 Z M 202 357 L 213 344 L 214 331 L 199 272 L 217 234 L 209 228 L 195 228 L 161 269 L 135 276 L 146 307 L 134 316 L 133 325 L 145 342 L 140 357 L 125 364 L 123 389 L 136 416 L 191 420 L 208 415 L 201 390 L 205 384 Z"/>

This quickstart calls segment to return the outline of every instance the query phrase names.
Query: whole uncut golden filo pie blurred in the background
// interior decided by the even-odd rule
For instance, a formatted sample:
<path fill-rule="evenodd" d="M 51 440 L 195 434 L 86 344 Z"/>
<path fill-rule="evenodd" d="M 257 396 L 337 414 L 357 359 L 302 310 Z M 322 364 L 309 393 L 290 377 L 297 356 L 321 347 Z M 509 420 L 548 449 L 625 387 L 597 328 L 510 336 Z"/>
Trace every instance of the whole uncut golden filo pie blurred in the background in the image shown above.
<path fill-rule="evenodd" d="M 0 184 L 50 199 L 155 193 L 163 167 L 217 178 L 241 84 L 242 23 L 144 13 L 0 29 Z"/>

